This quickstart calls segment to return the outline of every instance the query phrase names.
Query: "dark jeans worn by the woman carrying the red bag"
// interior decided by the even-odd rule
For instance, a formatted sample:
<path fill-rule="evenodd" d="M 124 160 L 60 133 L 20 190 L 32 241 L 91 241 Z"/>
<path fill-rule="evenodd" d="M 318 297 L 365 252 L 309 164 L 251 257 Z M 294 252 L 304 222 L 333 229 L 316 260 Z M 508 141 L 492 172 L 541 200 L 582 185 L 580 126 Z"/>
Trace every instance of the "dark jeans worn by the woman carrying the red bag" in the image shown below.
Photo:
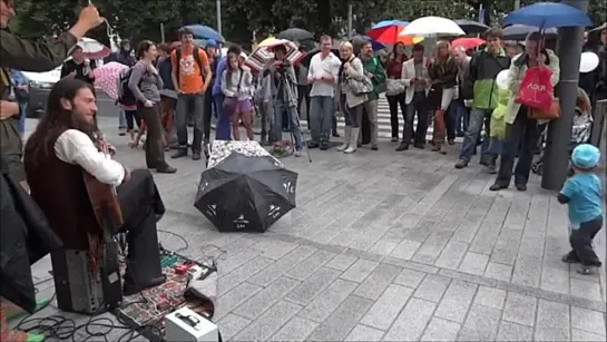
<path fill-rule="evenodd" d="M 527 118 L 527 107 L 521 106 L 512 125 L 506 126 L 506 143 L 501 153 L 501 162 L 496 184 L 507 186 L 512 178 L 515 158 L 519 153 L 515 168 L 515 184 L 527 185 L 533 163 L 533 148 L 539 138 L 538 120 Z M 520 152 L 519 152 L 520 144 Z"/>

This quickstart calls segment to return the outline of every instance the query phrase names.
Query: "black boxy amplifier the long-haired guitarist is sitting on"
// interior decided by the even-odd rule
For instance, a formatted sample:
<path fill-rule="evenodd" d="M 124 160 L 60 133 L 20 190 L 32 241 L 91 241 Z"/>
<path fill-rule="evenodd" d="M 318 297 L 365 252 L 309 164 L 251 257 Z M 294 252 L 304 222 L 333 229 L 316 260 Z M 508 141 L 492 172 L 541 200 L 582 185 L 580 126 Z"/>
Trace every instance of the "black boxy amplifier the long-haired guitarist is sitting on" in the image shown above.
<path fill-rule="evenodd" d="M 86 251 L 59 250 L 51 253 L 51 262 L 60 310 L 92 315 L 120 305 L 120 275 L 105 276 L 104 255 L 97 260 L 96 274 Z"/>

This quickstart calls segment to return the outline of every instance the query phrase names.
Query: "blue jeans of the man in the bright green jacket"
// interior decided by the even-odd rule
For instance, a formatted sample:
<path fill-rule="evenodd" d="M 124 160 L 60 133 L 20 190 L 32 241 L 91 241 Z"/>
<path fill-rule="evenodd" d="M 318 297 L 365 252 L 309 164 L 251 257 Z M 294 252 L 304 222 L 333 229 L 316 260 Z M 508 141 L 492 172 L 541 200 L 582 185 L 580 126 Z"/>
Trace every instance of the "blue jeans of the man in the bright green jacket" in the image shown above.
<path fill-rule="evenodd" d="M 484 125 L 486 138 L 482 140 L 481 158 L 489 157 L 492 160 L 497 158 L 500 144 L 495 139 L 493 144 L 490 144 L 489 139 L 491 109 L 472 108 L 470 110 L 470 123 L 463 136 L 463 144 L 461 145 L 460 159 L 470 162 L 470 158 L 472 158 L 472 154 L 477 149 L 477 141 L 479 140 L 482 125 Z"/>

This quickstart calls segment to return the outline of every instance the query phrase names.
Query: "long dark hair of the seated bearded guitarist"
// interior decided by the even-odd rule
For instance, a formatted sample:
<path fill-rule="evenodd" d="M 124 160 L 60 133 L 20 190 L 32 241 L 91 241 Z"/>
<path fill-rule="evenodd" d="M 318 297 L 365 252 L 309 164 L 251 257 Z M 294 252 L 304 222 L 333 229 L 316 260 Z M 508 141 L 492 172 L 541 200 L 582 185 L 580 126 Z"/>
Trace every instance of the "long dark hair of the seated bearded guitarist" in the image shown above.
<path fill-rule="evenodd" d="M 79 79 L 63 78 L 55 84 L 48 97 L 46 113 L 26 144 L 26 154 L 39 152 L 48 156 L 53 153 L 49 150 L 52 147 L 50 139 L 57 138 L 59 131 L 67 129 L 78 129 L 97 143 L 99 137 L 97 119 L 94 124 L 85 121 L 71 110 L 66 110 L 61 105 L 61 99 L 74 102 L 78 91 L 84 88 L 88 88 L 95 94 L 95 89 L 90 84 Z"/>

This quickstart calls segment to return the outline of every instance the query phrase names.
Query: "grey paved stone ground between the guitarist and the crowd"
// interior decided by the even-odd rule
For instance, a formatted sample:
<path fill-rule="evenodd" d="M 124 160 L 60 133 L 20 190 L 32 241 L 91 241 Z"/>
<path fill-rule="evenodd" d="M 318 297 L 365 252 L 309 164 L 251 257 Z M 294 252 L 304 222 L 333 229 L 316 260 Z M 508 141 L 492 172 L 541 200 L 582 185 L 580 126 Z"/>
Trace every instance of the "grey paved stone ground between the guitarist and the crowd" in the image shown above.
<path fill-rule="evenodd" d="M 144 164 L 114 143 L 119 160 Z M 297 208 L 265 234 L 218 233 L 193 207 L 204 163 L 170 160 L 178 173 L 156 177 L 160 226 L 187 241 L 183 254 L 218 258 L 224 340 L 605 341 L 605 272 L 560 262 L 566 208 L 539 179 L 493 193 L 478 164 L 453 168 L 456 150 L 394 147 L 284 159 L 300 174 Z M 36 276 L 48 277 L 45 262 Z"/>

